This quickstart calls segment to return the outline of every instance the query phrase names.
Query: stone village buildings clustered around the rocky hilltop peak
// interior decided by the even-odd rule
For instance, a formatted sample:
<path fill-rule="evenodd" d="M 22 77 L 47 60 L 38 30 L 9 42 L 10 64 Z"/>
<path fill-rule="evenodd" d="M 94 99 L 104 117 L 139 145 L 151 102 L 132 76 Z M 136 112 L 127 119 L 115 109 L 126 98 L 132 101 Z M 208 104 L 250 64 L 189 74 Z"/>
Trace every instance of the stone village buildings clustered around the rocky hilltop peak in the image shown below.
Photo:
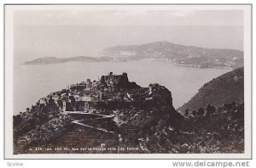
<path fill-rule="evenodd" d="M 46 98 L 40 98 L 38 104 L 46 105 L 52 102 L 61 112 L 92 112 L 90 109 L 96 104 L 150 99 L 152 99 L 151 86 L 141 88 L 135 82 L 128 81 L 126 73 L 117 76 L 110 72 L 108 76 L 102 76 L 99 81 L 87 79 L 61 91 L 51 92 Z"/>

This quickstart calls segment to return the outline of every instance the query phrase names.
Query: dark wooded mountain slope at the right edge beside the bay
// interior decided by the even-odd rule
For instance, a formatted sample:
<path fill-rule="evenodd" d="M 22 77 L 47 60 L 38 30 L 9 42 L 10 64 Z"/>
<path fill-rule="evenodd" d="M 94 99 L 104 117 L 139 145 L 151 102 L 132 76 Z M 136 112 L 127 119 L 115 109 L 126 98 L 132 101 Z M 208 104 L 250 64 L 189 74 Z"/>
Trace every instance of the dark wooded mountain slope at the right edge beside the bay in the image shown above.
<path fill-rule="evenodd" d="M 208 104 L 220 107 L 232 102 L 244 103 L 244 72 L 243 67 L 232 70 L 207 82 L 187 104 L 177 109 L 182 113 L 206 108 Z"/>

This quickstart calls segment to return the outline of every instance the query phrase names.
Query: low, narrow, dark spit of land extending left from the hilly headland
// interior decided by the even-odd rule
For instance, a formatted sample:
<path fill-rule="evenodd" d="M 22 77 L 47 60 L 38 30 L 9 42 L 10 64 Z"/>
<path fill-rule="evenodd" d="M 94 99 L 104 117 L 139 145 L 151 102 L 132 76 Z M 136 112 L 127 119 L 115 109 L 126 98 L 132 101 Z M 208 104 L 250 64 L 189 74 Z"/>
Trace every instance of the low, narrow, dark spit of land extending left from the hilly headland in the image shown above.
<path fill-rule="evenodd" d="M 57 64 L 57 63 L 67 63 L 67 62 L 102 62 L 102 61 L 111 61 L 109 57 L 87 57 L 87 56 L 78 56 L 78 57 L 69 57 L 69 58 L 55 58 L 55 57 L 42 57 L 39 59 L 34 59 L 32 61 L 27 61 L 24 64 Z"/>

